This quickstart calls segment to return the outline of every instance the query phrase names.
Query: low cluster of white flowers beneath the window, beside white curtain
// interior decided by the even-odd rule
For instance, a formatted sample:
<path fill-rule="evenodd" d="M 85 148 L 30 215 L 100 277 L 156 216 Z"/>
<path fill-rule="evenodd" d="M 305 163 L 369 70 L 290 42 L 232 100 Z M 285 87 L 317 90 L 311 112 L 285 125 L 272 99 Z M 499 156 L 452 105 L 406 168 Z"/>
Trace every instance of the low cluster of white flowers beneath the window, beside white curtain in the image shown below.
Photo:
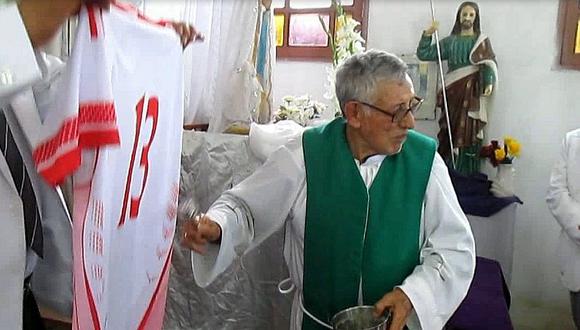
<path fill-rule="evenodd" d="M 326 110 L 326 105 L 313 101 L 310 95 L 285 96 L 274 113 L 274 122 L 293 120 L 299 125 L 307 126 L 310 120 L 320 118 L 324 110 Z"/>

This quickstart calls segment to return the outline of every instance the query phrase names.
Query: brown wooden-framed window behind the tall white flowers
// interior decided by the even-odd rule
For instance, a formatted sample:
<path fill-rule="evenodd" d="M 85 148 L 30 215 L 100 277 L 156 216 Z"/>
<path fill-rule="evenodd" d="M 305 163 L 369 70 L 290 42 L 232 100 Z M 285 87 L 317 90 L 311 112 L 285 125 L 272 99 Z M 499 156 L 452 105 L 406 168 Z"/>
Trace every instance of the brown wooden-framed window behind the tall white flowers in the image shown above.
<path fill-rule="evenodd" d="M 361 33 L 366 39 L 367 0 L 342 0 L 341 3 L 347 15 L 361 23 Z M 336 11 L 331 0 L 274 0 L 272 8 L 278 58 L 331 60 L 330 42 L 320 24 L 321 18 L 334 35 Z"/>

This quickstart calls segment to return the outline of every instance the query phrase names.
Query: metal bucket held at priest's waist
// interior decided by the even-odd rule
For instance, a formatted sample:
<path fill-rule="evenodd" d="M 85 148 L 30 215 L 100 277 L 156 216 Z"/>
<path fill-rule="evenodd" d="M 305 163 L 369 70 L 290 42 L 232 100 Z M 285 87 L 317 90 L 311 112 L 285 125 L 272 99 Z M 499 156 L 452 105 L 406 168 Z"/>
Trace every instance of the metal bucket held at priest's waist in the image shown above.
<path fill-rule="evenodd" d="M 334 330 L 386 330 L 389 315 L 373 316 L 373 306 L 356 306 L 336 313 L 330 324 Z"/>

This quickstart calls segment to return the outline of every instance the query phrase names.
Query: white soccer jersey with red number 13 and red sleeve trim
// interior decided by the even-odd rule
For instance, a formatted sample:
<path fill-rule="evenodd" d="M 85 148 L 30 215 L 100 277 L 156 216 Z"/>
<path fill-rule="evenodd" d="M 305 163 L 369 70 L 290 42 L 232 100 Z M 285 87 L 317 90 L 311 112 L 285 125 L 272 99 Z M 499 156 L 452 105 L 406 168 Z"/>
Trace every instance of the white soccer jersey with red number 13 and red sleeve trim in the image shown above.
<path fill-rule="evenodd" d="M 57 97 L 41 110 L 40 173 L 73 175 L 73 329 L 161 329 L 176 224 L 182 49 L 114 3 L 84 7 Z"/>

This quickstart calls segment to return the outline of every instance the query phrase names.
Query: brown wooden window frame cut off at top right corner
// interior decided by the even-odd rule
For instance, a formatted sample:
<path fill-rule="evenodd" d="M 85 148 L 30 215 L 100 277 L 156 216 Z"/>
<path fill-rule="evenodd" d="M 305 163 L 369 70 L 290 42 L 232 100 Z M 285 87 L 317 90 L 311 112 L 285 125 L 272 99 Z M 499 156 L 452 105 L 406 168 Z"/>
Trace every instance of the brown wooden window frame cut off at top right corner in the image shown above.
<path fill-rule="evenodd" d="M 561 0 L 560 9 L 562 30 L 560 64 L 580 70 L 580 0 Z"/>

